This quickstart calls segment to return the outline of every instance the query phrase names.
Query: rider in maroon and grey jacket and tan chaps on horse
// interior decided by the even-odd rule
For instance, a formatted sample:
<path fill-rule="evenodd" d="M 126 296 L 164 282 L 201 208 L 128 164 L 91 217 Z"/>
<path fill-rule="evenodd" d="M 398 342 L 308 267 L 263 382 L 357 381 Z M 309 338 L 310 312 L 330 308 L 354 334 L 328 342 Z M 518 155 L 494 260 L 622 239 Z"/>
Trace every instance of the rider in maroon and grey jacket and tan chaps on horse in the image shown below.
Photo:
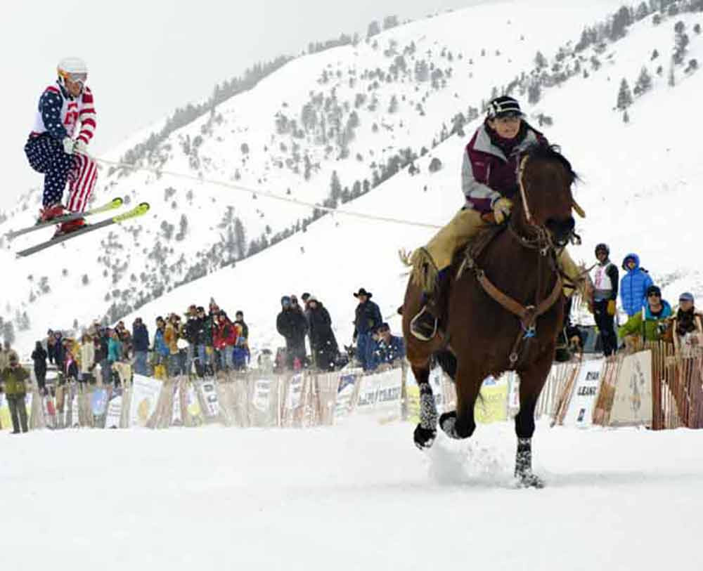
<path fill-rule="evenodd" d="M 530 145 L 548 144 L 542 133 L 524 120 L 520 103 L 510 96 L 491 100 L 484 123 L 464 151 L 461 186 L 466 204 L 444 228 L 411 256 L 413 277 L 423 289 L 424 305 L 411 321 L 411 333 L 421 341 L 437 334 L 441 315 L 440 289 L 458 249 L 491 223 L 501 224 L 510 215 L 520 192 L 520 154 Z M 581 280 L 579 268 L 566 250 L 560 267 L 571 280 Z M 567 291 L 572 294 L 573 289 Z"/>

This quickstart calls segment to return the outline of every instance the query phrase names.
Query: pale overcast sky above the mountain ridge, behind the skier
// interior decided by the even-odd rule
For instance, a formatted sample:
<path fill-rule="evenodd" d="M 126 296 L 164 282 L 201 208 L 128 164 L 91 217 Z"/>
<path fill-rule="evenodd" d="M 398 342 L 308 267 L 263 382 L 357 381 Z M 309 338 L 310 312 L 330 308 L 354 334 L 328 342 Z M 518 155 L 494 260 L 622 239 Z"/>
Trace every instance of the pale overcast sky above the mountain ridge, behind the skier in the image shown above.
<path fill-rule="evenodd" d="M 56 63 L 79 55 L 89 66 L 98 112 L 91 149 L 100 155 L 175 107 L 260 60 L 296 54 L 309 41 L 366 32 L 396 14 L 418 18 L 477 0 L 0 0 L 6 131 L 0 208 L 13 206 L 42 176 L 22 147 Z"/>

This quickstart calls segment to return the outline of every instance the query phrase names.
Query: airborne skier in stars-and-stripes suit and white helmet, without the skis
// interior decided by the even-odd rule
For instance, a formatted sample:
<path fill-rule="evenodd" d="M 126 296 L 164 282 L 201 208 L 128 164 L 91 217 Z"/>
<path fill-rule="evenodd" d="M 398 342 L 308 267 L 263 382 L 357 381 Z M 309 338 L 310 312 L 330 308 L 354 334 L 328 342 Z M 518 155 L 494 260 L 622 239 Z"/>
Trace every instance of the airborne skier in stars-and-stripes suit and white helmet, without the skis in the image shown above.
<path fill-rule="evenodd" d="M 95 162 L 86 155 L 96 128 L 93 93 L 86 85 L 88 68 L 80 58 L 64 58 L 57 71 L 56 84 L 48 86 L 39 98 L 34 129 L 25 145 L 32 169 L 44 174 L 39 222 L 66 214 L 63 192 L 67 181 L 70 187 L 67 210 L 83 212 L 98 174 Z M 56 235 L 79 230 L 84 225 L 84 218 L 65 222 Z"/>

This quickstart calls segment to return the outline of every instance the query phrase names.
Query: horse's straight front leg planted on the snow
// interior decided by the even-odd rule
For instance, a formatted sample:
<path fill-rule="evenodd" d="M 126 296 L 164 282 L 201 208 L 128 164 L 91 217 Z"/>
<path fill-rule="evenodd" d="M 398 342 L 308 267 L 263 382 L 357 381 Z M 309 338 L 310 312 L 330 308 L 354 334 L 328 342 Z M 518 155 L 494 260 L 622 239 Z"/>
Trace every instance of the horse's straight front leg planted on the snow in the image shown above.
<path fill-rule="evenodd" d="M 553 355 L 553 350 L 547 350 L 529 369 L 520 371 L 520 412 L 515 416 L 515 478 L 522 487 L 544 487 L 544 481 L 532 472 L 532 435 L 534 409 L 552 367 Z"/>

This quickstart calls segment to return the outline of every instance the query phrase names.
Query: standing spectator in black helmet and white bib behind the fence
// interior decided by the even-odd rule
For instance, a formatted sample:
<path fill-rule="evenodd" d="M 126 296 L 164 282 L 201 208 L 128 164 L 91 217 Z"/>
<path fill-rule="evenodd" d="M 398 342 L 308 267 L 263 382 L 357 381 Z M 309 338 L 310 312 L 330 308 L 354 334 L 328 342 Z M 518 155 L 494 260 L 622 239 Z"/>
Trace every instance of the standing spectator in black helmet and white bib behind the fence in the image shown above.
<path fill-rule="evenodd" d="M 619 283 L 617 267 L 610 261 L 609 256 L 610 249 L 607 244 L 598 244 L 595 247 L 598 263 L 593 270 L 593 317 L 600 331 L 603 354 L 606 357 L 610 357 L 617 350 L 615 312 Z"/>

